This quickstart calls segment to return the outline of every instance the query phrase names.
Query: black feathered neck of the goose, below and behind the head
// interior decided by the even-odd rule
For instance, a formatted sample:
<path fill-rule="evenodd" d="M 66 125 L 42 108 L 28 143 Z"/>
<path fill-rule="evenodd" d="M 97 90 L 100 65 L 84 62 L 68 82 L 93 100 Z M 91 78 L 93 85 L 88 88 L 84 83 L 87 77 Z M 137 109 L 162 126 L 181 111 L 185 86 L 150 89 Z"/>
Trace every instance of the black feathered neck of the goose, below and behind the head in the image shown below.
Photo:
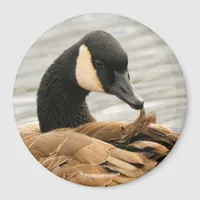
<path fill-rule="evenodd" d="M 41 132 L 76 127 L 94 120 L 85 102 L 89 92 L 72 81 L 76 55 L 69 55 L 69 63 L 70 51 L 64 54 L 49 67 L 40 83 L 37 113 Z"/>

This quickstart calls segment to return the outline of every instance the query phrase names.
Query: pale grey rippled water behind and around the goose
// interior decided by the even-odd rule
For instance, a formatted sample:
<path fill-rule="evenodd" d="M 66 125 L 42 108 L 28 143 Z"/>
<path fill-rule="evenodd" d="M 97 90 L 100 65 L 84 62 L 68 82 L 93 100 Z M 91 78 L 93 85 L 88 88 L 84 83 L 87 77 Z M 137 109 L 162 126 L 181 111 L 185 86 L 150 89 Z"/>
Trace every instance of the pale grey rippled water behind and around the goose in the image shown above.
<path fill-rule="evenodd" d="M 33 44 L 16 77 L 14 111 L 17 124 L 37 121 L 36 91 L 50 64 L 83 35 L 97 29 L 111 33 L 127 52 L 131 82 L 144 99 L 146 111 L 156 112 L 158 123 L 180 132 L 186 115 L 186 89 L 175 56 L 165 42 L 144 25 L 110 14 L 66 20 Z M 93 92 L 87 102 L 99 121 L 132 121 L 139 114 L 111 95 Z"/>

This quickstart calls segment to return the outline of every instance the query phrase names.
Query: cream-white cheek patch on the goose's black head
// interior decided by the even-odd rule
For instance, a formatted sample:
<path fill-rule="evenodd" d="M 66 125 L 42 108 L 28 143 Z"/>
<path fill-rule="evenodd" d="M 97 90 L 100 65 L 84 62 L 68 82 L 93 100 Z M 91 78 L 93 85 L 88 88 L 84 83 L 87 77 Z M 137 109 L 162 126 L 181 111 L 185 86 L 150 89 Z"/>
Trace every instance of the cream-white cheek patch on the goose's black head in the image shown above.
<path fill-rule="evenodd" d="M 85 45 L 81 45 L 76 61 L 76 80 L 78 84 L 89 91 L 105 92 L 92 64 L 92 57 Z"/>

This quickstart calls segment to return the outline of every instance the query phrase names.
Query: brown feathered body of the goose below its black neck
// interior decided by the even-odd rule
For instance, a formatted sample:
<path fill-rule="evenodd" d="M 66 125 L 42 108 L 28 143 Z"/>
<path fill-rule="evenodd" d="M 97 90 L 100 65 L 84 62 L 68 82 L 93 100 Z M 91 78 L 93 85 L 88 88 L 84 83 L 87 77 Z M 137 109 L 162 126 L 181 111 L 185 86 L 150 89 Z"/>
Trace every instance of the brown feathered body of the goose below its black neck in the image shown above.
<path fill-rule="evenodd" d="M 155 114 L 132 123 L 91 122 L 45 134 L 38 123 L 19 127 L 33 156 L 61 178 L 88 186 L 126 183 L 153 169 L 171 150 L 178 134 L 155 124 Z"/>

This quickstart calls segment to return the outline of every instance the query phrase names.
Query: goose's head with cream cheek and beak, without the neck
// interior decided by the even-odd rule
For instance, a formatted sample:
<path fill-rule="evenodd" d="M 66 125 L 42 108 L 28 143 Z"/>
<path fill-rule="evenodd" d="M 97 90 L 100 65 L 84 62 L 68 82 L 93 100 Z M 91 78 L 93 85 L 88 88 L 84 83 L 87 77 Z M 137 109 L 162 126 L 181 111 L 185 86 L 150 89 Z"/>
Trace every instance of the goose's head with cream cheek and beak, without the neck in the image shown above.
<path fill-rule="evenodd" d="M 79 42 L 76 80 L 82 88 L 113 94 L 134 109 L 143 108 L 143 100 L 131 86 L 128 57 L 109 33 L 93 31 Z"/>

